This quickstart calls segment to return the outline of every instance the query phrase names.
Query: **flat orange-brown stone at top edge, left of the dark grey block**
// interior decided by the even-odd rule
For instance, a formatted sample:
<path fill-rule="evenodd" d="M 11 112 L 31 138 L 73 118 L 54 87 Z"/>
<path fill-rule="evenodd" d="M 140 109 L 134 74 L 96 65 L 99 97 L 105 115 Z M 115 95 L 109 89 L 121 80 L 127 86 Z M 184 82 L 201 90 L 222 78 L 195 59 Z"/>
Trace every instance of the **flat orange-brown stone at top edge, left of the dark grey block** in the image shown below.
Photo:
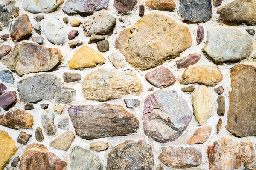
<path fill-rule="evenodd" d="M 148 0 L 146 6 L 160 11 L 174 11 L 176 4 L 173 0 Z"/>

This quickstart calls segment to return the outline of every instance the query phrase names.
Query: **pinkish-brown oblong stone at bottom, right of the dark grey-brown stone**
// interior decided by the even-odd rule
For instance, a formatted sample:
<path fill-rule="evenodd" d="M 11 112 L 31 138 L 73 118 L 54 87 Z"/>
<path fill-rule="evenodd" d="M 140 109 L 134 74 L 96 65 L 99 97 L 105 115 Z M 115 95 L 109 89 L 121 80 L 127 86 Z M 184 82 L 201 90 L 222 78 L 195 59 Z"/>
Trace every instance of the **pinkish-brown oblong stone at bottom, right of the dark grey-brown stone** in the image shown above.
<path fill-rule="evenodd" d="M 169 146 L 162 147 L 158 159 L 168 167 L 191 168 L 202 162 L 202 153 L 196 147 Z"/>

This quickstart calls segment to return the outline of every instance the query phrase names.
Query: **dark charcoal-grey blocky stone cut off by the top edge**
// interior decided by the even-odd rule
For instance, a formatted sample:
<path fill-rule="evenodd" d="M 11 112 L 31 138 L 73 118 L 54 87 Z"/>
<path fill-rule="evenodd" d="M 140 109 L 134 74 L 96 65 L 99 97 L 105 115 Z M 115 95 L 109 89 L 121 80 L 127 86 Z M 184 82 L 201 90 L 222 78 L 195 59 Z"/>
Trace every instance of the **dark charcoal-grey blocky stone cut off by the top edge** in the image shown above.
<path fill-rule="evenodd" d="M 212 17 L 211 0 L 179 0 L 179 14 L 183 21 L 206 22 Z"/>

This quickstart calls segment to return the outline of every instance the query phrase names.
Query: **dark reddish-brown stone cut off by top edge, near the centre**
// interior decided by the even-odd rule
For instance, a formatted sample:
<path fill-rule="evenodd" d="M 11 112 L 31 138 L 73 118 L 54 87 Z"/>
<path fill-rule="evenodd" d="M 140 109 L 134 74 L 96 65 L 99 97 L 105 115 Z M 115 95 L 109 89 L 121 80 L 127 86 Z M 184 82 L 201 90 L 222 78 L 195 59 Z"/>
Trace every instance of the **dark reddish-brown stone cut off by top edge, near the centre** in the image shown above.
<path fill-rule="evenodd" d="M 115 0 L 114 7 L 119 14 L 128 14 L 136 6 L 137 0 Z"/>

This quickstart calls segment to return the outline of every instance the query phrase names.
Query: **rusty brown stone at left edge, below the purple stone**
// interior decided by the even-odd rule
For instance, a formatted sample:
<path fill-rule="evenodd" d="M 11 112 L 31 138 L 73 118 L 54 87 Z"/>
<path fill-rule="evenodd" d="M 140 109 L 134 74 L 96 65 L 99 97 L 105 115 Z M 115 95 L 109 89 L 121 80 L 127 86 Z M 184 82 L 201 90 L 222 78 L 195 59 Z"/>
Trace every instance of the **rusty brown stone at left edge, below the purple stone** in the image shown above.
<path fill-rule="evenodd" d="M 12 129 L 32 129 L 33 124 L 33 116 L 19 109 L 9 111 L 5 115 L 0 115 L 0 125 Z"/>

